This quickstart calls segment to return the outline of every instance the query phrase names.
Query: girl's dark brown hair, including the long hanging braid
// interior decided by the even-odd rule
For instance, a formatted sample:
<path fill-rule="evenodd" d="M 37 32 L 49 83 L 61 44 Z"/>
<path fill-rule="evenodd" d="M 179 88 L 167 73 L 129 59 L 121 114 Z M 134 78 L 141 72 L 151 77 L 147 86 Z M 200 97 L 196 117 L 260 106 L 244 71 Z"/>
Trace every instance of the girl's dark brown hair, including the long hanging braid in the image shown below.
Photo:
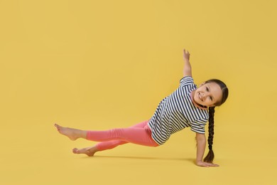
<path fill-rule="evenodd" d="M 222 100 L 220 100 L 219 102 L 216 102 L 215 106 L 222 105 L 227 100 L 227 97 L 229 95 L 229 90 L 225 85 L 225 83 L 217 79 L 207 80 L 206 83 L 217 83 L 217 85 L 219 85 L 219 87 L 222 90 Z M 214 160 L 214 152 L 212 151 L 213 139 L 214 139 L 214 107 L 209 107 L 209 137 L 207 139 L 209 144 L 209 152 L 205 157 L 204 162 L 212 162 Z"/>

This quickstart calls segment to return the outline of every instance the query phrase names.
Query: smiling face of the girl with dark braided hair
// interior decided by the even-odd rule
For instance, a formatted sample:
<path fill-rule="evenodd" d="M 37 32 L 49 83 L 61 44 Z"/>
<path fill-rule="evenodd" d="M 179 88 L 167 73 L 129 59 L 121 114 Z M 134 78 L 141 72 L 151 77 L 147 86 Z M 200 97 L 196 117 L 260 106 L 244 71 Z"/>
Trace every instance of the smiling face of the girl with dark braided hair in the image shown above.
<path fill-rule="evenodd" d="M 217 83 L 202 83 L 192 92 L 192 98 L 197 104 L 214 107 L 222 99 L 222 90 Z"/>

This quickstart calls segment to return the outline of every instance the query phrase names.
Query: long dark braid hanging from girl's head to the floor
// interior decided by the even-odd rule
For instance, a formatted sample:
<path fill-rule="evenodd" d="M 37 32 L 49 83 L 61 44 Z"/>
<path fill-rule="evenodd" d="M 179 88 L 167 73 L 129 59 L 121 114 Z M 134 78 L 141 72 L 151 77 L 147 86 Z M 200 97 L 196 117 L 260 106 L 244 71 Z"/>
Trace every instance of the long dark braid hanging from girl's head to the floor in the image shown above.
<path fill-rule="evenodd" d="M 212 151 L 212 143 L 214 139 L 214 107 L 209 107 L 209 152 L 204 159 L 204 162 L 212 162 L 214 160 L 214 152 Z"/>

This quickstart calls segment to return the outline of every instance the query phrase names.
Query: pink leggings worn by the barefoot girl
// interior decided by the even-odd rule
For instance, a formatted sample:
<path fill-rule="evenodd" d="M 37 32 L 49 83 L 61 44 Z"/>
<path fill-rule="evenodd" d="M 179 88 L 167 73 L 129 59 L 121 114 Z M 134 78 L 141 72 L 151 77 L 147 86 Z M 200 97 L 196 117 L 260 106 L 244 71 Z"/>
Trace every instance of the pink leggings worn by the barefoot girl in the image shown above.
<path fill-rule="evenodd" d="M 99 142 L 96 147 L 99 151 L 113 149 L 121 144 L 134 143 L 148 147 L 158 147 L 151 137 L 148 120 L 124 129 L 109 129 L 106 131 L 87 131 L 87 139 Z"/>

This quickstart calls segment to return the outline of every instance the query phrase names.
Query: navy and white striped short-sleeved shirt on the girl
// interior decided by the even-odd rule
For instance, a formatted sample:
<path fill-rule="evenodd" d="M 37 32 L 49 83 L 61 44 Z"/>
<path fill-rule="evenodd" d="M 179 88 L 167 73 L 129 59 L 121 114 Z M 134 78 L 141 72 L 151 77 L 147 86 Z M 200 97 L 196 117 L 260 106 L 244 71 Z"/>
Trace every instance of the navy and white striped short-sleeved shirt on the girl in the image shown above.
<path fill-rule="evenodd" d="M 193 132 L 205 134 L 209 115 L 207 110 L 202 110 L 192 103 L 190 94 L 196 89 L 192 77 L 185 76 L 180 80 L 178 89 L 161 100 L 148 122 L 152 138 L 157 144 L 164 144 L 171 134 L 185 127 L 190 127 Z"/>

